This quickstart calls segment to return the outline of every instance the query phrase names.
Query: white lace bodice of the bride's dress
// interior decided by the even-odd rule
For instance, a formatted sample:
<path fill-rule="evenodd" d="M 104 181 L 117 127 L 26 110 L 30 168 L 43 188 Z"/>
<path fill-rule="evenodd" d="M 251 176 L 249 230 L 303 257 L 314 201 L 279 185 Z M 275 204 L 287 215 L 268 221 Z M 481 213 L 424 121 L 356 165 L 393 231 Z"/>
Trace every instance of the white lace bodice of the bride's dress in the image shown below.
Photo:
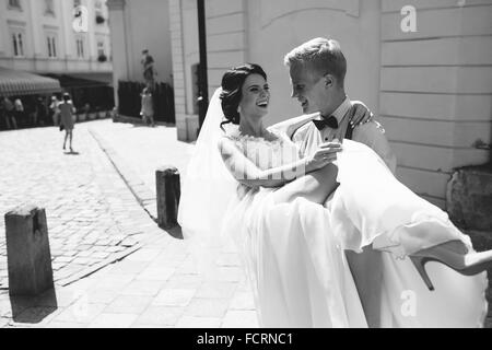
<path fill-rule="evenodd" d="M 277 135 L 277 133 L 276 133 Z M 297 147 L 288 138 L 277 135 L 270 141 L 253 136 L 229 137 L 243 154 L 261 170 L 282 166 L 300 160 Z"/>

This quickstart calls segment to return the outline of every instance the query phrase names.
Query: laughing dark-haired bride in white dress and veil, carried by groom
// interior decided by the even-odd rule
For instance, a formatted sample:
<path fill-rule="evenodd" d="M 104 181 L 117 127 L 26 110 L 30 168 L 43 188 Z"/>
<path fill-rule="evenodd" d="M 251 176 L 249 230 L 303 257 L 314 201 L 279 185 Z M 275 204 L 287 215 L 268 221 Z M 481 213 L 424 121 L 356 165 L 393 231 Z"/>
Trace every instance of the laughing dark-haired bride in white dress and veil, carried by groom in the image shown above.
<path fill-rule="evenodd" d="M 445 212 L 362 143 L 321 144 L 300 158 L 290 135 L 318 115 L 265 128 L 268 89 L 257 65 L 224 74 L 178 212 L 209 265 L 233 238 L 260 326 L 367 327 L 343 250 L 372 244 L 387 252 L 383 327 L 482 327 L 491 252 L 475 253 Z"/>

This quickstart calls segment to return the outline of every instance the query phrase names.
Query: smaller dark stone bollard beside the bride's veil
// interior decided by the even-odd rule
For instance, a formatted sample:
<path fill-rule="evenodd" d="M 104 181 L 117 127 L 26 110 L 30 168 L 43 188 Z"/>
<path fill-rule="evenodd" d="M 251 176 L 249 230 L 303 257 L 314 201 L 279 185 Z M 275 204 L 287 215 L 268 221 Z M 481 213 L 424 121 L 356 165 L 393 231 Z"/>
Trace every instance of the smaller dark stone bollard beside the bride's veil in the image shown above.
<path fill-rule="evenodd" d="M 155 172 L 157 192 L 157 224 L 162 229 L 176 226 L 181 187 L 179 171 L 174 166 L 163 166 Z"/>

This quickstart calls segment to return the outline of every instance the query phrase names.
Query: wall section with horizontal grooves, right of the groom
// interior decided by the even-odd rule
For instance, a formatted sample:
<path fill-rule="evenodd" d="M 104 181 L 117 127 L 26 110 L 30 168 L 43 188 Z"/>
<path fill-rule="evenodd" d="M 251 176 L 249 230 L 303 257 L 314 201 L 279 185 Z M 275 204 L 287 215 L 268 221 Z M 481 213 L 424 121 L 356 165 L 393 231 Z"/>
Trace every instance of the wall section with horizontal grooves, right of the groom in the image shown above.
<path fill-rule="evenodd" d="M 445 208 L 453 170 L 487 163 L 492 116 L 492 2 L 382 2 L 380 119 L 398 176 Z M 417 32 L 401 30 L 405 5 Z"/>

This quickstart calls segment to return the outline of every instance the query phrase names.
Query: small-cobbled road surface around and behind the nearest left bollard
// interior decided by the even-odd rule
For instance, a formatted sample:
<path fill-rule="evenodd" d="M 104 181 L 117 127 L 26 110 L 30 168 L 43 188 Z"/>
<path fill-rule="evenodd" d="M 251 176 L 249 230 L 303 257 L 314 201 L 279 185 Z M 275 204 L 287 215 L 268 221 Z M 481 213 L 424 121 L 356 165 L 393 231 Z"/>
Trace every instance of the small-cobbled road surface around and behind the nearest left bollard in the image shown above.
<path fill-rule="evenodd" d="M 77 125 L 75 153 L 62 132 L 36 128 L 0 133 L 0 212 L 22 203 L 46 209 L 54 276 L 67 283 L 131 252 L 148 218 L 107 156 Z M 8 287 L 4 220 L 0 220 L 0 289 Z"/>

